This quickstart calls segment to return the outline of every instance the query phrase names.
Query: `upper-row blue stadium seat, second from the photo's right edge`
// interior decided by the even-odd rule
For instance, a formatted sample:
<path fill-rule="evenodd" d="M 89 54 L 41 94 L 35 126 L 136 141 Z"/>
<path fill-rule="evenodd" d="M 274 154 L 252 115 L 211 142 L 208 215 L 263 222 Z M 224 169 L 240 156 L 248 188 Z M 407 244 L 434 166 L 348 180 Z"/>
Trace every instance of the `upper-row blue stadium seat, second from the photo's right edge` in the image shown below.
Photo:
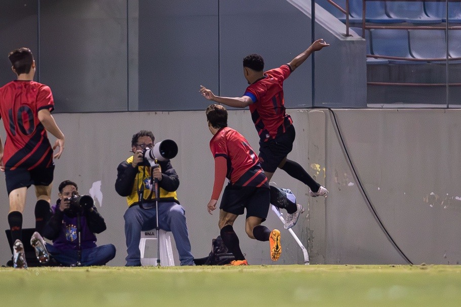
<path fill-rule="evenodd" d="M 424 3 L 388 1 L 386 13 L 392 18 L 403 18 L 409 23 L 441 23 L 441 18 L 429 17 L 424 12 Z"/>

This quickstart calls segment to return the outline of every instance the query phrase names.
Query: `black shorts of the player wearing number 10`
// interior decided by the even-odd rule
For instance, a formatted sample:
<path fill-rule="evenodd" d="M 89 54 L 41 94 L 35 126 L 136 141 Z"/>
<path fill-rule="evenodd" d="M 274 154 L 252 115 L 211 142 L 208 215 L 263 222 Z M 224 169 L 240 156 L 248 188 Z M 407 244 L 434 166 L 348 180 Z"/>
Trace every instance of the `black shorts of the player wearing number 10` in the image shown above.
<path fill-rule="evenodd" d="M 11 191 L 34 186 L 49 186 L 53 182 L 54 163 L 49 167 L 37 167 L 31 170 L 17 167 L 5 168 L 5 182 L 7 183 L 8 195 Z"/>

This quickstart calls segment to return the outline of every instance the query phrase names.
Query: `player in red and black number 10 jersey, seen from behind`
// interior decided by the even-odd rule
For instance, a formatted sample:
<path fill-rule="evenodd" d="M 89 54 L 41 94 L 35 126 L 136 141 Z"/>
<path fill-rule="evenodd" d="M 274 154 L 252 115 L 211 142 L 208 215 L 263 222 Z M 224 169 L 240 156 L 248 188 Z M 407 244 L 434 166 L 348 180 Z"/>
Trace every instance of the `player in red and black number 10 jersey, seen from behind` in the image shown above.
<path fill-rule="evenodd" d="M 0 140 L 0 170 L 5 171 L 10 211 L 8 223 L 13 239 L 13 266 L 27 268 L 22 244 L 22 212 L 27 188 L 35 186 L 35 230 L 41 232 L 50 217 L 50 195 L 53 182 L 53 158 L 61 156 L 64 135 L 51 111 L 54 109 L 50 87 L 33 81 L 35 61 L 28 48 L 9 54 L 17 80 L 0 87 L 0 116 L 6 130 L 5 147 Z M 51 147 L 47 131 L 56 137 Z M 53 150 L 59 147 L 56 154 Z M 37 244 L 31 245 L 37 252 Z M 40 245 L 40 244 L 39 244 Z"/>

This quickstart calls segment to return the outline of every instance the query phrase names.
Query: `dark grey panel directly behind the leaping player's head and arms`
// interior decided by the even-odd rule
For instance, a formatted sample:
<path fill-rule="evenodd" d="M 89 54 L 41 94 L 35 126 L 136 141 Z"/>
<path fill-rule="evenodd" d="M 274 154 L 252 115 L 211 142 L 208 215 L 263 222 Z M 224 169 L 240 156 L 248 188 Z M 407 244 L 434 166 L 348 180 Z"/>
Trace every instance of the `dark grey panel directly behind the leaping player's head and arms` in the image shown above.
<path fill-rule="evenodd" d="M 310 45 L 308 18 L 285 1 L 220 2 L 220 95 L 240 97 L 248 86 L 243 58 L 260 54 L 264 69 L 290 62 Z M 311 106 L 311 62 L 306 61 L 284 82 L 288 108 Z"/>

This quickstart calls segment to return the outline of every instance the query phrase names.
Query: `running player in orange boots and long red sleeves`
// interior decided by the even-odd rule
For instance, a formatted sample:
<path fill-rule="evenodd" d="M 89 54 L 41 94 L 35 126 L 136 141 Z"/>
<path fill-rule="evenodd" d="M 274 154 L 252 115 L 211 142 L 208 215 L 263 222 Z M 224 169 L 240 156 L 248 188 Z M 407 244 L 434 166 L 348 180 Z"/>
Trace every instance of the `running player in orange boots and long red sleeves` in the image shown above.
<path fill-rule="evenodd" d="M 222 241 L 235 256 L 228 266 L 248 266 L 240 249 L 239 237 L 233 225 L 237 216 L 246 209 L 245 232 L 251 239 L 269 241 L 271 259 L 276 261 L 282 252 L 280 231 L 262 226 L 270 206 L 270 192 L 267 178 L 248 141 L 238 131 L 227 127 L 227 110 L 220 105 L 210 105 L 207 110 L 208 128 L 213 134 L 210 150 L 214 157 L 214 186 L 208 202 L 208 213 L 216 209 L 224 180 L 219 206 L 219 229 Z"/>

